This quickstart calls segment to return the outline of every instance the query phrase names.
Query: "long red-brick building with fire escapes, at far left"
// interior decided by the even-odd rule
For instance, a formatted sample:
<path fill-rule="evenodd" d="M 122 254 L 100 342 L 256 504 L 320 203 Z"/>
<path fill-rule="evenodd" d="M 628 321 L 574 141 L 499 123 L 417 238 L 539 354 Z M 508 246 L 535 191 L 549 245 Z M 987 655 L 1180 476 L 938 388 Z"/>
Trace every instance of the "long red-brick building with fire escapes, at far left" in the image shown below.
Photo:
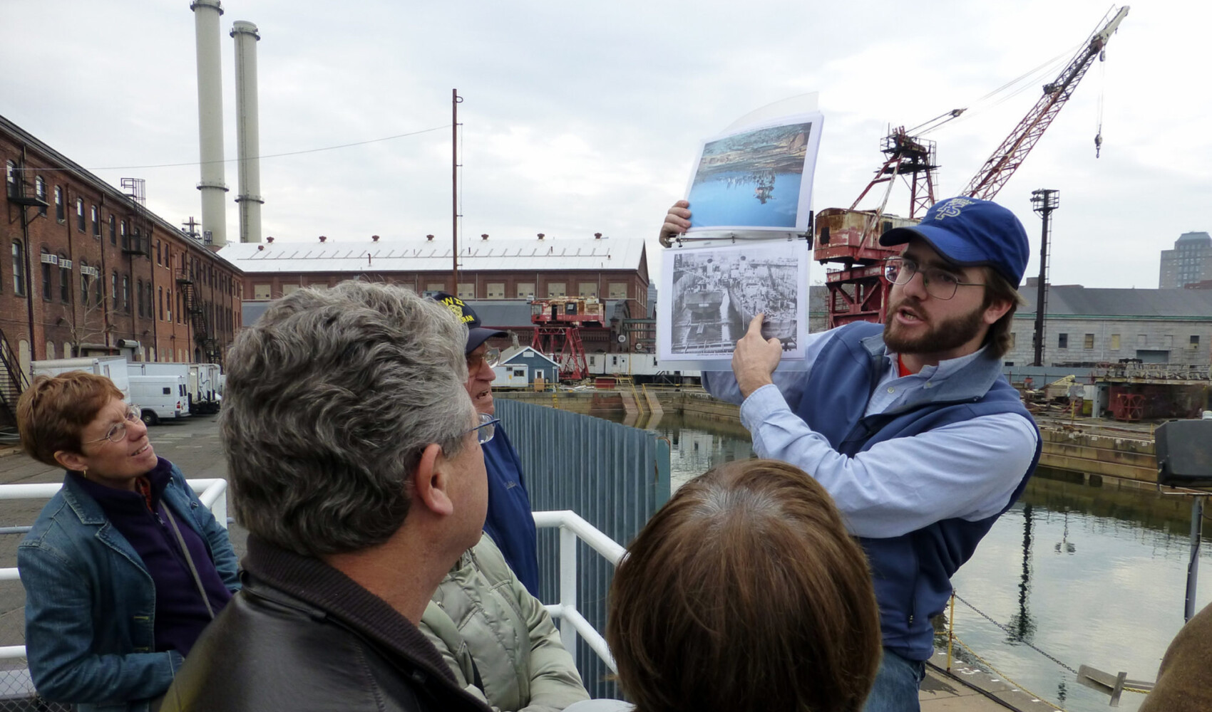
<path fill-rule="evenodd" d="M 29 361 L 125 355 L 219 362 L 240 327 L 239 270 L 0 116 L 4 350 Z"/>

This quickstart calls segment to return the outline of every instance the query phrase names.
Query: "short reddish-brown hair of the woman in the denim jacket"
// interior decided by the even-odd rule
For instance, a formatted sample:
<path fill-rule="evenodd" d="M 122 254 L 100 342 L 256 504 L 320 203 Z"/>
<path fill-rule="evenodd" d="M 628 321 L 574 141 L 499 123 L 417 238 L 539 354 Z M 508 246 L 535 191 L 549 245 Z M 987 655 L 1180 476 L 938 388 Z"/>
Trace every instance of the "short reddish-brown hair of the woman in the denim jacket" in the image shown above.
<path fill-rule="evenodd" d="M 39 463 L 58 466 L 55 453 L 80 452 L 80 433 L 114 398 L 114 381 L 84 371 L 39 375 L 17 401 L 21 446 Z"/>

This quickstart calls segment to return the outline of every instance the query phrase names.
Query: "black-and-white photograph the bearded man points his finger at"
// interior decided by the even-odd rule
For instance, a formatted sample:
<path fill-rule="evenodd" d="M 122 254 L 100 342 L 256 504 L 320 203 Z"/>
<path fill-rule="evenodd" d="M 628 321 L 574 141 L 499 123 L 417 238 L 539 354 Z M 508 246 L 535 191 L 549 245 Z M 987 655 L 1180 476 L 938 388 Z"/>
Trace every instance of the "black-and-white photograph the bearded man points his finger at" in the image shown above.
<path fill-rule="evenodd" d="M 762 335 L 794 351 L 802 338 L 800 259 L 795 243 L 708 248 L 673 255 L 670 351 L 727 356 L 758 312 Z"/>

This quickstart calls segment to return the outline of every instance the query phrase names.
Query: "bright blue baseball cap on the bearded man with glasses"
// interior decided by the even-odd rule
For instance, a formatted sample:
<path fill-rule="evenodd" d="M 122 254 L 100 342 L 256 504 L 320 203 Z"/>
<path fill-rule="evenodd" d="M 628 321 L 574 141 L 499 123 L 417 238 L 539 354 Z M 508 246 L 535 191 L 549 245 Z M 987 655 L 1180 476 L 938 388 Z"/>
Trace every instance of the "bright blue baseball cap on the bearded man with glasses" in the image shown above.
<path fill-rule="evenodd" d="M 1017 287 L 1027 270 L 1030 246 L 1014 213 L 978 197 L 949 197 L 930 206 L 921 223 L 893 228 L 880 245 L 925 240 L 936 252 L 961 266 L 991 266 Z"/>

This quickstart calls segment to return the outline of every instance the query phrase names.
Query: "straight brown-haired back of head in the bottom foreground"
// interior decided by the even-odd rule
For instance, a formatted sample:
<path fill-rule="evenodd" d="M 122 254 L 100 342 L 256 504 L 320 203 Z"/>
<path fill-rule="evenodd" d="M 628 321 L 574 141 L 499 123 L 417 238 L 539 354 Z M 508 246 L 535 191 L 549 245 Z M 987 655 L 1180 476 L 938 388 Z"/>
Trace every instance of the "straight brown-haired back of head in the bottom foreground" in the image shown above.
<path fill-rule="evenodd" d="M 631 542 L 606 638 L 639 712 L 845 712 L 880 659 L 862 549 L 828 493 L 776 460 L 682 486 Z"/>

